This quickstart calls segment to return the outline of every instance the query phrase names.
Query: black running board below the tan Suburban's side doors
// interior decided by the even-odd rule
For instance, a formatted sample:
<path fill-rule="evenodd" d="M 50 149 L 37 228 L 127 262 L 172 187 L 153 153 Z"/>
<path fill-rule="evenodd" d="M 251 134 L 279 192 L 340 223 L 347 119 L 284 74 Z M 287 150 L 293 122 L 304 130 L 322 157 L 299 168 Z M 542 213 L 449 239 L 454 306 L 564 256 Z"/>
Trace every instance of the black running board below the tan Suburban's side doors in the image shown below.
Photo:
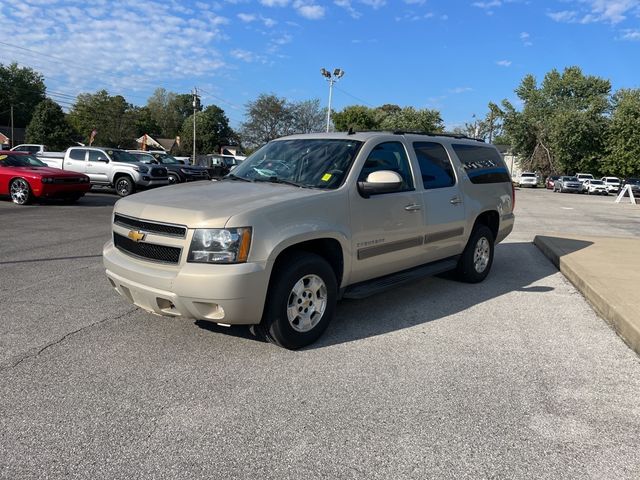
<path fill-rule="evenodd" d="M 424 277 L 432 277 L 439 273 L 448 272 L 449 270 L 456 268 L 458 265 L 458 258 L 460 257 L 450 257 L 437 262 L 428 263 L 420 267 L 403 270 L 398 273 L 392 273 L 391 275 L 386 275 L 384 277 L 367 280 L 366 282 L 356 283 L 344 290 L 342 298 L 361 300 L 384 292 L 390 288 L 397 287 L 398 285 L 420 280 Z"/>

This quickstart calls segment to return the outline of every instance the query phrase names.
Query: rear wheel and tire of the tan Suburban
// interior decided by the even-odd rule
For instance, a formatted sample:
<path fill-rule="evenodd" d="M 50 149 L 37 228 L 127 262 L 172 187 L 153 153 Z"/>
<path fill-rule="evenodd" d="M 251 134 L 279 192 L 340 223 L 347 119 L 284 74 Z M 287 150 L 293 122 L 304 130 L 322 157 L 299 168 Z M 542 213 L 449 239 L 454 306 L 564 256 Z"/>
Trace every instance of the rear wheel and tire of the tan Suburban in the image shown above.
<path fill-rule="evenodd" d="M 456 273 L 459 280 L 479 283 L 487 278 L 493 265 L 494 243 L 489 227 L 477 224 L 473 228 L 467 246 L 458 260 Z"/>

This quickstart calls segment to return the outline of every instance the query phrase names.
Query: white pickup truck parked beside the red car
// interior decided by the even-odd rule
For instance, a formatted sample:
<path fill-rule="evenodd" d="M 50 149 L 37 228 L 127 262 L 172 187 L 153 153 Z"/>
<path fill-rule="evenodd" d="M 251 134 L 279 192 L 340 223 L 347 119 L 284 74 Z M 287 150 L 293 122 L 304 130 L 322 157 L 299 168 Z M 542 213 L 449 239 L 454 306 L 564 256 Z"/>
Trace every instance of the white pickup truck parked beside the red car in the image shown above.
<path fill-rule="evenodd" d="M 138 162 L 117 148 L 70 147 L 65 152 L 41 152 L 37 157 L 50 167 L 84 173 L 92 185 L 113 187 L 121 197 L 138 188 L 169 184 L 166 168 Z"/>

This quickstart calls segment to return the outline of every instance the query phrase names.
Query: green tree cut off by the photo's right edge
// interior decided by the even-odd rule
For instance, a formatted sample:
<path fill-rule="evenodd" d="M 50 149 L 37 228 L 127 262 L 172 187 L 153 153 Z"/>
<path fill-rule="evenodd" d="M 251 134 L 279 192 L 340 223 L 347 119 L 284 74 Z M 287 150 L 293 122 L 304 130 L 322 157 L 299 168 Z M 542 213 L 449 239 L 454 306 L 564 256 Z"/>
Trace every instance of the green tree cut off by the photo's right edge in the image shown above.
<path fill-rule="evenodd" d="M 618 90 L 607 134 L 606 174 L 640 175 L 640 89 Z"/>

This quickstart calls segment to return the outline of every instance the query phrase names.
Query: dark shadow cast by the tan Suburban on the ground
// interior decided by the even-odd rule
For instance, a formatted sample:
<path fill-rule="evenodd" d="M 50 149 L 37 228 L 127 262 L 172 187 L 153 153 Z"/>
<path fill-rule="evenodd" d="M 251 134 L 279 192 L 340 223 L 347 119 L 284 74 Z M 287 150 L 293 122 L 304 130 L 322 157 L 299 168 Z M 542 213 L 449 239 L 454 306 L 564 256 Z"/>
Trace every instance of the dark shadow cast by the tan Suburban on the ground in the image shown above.
<path fill-rule="evenodd" d="M 588 246 L 576 243 L 575 249 Z M 558 273 L 557 268 L 530 242 L 504 243 L 496 247 L 493 268 L 482 283 L 467 284 L 451 275 L 423 280 L 390 289 L 363 300 L 338 302 L 336 317 L 312 350 L 412 328 L 463 312 L 475 305 L 518 291 L 543 295 L 553 287 L 540 284 Z M 544 301 L 543 297 L 540 301 Z M 196 321 L 200 328 L 240 338 L 265 341 L 243 326 L 221 327 Z"/>

